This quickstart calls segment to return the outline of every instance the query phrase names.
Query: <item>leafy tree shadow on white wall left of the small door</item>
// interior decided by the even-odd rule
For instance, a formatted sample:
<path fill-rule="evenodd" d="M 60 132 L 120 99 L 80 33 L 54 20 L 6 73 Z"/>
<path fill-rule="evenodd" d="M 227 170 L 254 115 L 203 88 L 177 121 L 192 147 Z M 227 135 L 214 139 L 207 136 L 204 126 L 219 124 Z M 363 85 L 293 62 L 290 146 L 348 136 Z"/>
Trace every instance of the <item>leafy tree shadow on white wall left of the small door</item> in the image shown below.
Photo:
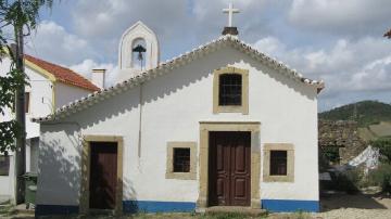
<path fill-rule="evenodd" d="M 78 212 L 79 165 L 61 140 L 40 142 L 36 216 Z"/>

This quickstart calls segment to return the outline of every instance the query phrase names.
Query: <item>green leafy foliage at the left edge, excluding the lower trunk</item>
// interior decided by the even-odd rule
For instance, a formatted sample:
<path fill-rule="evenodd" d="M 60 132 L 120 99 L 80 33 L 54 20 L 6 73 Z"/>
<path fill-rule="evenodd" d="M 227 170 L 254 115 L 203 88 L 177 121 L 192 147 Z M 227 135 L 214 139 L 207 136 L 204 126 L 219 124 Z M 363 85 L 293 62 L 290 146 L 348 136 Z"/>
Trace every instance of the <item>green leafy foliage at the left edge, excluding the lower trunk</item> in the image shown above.
<path fill-rule="evenodd" d="M 37 27 L 39 9 L 42 5 L 52 5 L 52 0 L 0 0 L 0 55 L 9 55 L 12 64 L 10 72 L 0 77 L 0 114 L 4 115 L 5 108 L 11 108 L 15 102 L 16 91 L 27 85 L 23 68 L 16 65 L 17 59 L 23 53 L 10 48 L 10 42 L 16 42 L 17 36 L 22 38 L 29 35 Z M 13 37 L 8 36 L 5 29 L 13 28 Z M 21 31 L 24 29 L 25 31 Z M 24 133 L 21 124 L 15 119 L 0 123 L 0 153 L 7 154 L 14 151 L 14 140 Z"/>

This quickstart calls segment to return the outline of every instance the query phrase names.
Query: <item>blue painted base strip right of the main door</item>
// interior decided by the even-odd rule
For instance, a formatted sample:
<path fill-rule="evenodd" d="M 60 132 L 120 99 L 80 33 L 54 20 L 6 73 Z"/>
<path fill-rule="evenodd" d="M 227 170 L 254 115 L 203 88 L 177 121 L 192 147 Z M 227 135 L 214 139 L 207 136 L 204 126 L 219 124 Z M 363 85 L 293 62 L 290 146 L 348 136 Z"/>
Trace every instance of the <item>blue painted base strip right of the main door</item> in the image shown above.
<path fill-rule="evenodd" d="M 319 201 L 262 199 L 262 208 L 273 212 L 319 211 Z"/>

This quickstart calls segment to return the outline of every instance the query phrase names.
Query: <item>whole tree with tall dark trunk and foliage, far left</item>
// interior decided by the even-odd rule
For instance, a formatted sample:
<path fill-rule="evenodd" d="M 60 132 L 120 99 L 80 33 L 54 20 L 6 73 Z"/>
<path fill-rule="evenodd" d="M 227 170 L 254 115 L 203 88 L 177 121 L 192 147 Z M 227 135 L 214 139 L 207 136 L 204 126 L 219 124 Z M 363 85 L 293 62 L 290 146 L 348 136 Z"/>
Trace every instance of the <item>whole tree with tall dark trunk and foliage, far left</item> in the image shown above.
<path fill-rule="evenodd" d="M 25 92 L 27 85 L 23 64 L 23 39 L 37 27 L 39 9 L 42 5 L 52 5 L 52 0 L 0 0 L 0 55 L 9 55 L 12 64 L 10 72 L 0 77 L 0 114 L 4 115 L 5 108 L 15 106 L 16 118 L 0 123 L 0 153 L 8 154 L 16 151 L 16 204 L 23 201 L 22 175 L 25 173 Z M 5 28 L 13 28 L 13 38 L 9 39 Z M 9 43 L 15 42 L 10 48 Z M 14 144 L 16 139 L 16 144 Z"/>

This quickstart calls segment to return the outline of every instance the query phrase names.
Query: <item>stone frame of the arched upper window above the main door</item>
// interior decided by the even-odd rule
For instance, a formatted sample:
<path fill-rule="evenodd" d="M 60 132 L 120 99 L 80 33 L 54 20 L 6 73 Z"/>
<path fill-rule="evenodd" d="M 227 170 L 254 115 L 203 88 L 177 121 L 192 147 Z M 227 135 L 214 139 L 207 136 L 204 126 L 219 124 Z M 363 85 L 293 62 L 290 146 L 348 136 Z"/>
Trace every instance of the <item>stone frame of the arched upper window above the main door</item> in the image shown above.
<path fill-rule="evenodd" d="M 238 74 L 242 76 L 241 105 L 218 105 L 219 76 L 225 74 Z M 213 72 L 213 114 L 218 113 L 242 113 L 249 114 L 249 70 L 238 67 L 223 67 Z"/>

